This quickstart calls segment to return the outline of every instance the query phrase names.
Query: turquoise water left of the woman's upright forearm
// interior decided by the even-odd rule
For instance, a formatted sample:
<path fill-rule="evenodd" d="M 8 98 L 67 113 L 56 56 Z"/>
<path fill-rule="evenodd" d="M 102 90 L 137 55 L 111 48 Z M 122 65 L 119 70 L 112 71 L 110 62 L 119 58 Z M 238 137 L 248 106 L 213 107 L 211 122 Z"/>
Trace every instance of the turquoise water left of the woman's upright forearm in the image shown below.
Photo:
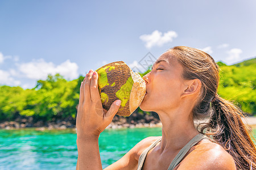
<path fill-rule="evenodd" d="M 70 130 L 0 130 L 0 169 L 75 169 L 76 134 Z"/>

